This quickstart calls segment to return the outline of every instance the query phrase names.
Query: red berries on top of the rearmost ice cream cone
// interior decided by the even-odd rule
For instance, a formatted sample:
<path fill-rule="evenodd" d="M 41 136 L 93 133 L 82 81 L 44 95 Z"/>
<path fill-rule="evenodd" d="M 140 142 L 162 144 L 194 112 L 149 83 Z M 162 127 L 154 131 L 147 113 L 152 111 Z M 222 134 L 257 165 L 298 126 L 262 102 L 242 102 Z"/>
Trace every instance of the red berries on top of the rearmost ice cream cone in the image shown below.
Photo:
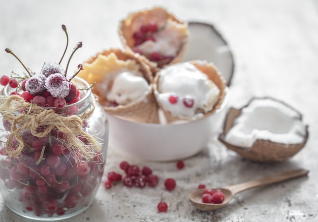
<path fill-rule="evenodd" d="M 146 41 L 156 42 L 155 36 L 153 34 L 157 33 L 158 31 L 160 31 L 160 29 L 158 28 L 158 25 L 155 21 L 150 21 L 149 24 L 142 25 L 140 29 L 133 34 L 133 39 L 135 40 L 133 51 L 146 56 L 151 61 L 155 61 L 158 64 L 158 67 L 161 68 L 164 65 L 169 64 L 174 57 L 164 56 L 158 52 L 145 54 L 140 47 L 138 47 Z"/>

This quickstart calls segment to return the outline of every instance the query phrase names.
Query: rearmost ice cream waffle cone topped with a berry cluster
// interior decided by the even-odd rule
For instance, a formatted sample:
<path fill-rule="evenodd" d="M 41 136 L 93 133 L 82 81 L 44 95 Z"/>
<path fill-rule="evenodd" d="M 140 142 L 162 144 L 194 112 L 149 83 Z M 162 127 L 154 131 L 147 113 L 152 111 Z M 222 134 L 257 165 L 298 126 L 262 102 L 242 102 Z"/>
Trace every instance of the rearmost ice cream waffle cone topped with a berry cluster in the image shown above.
<path fill-rule="evenodd" d="M 124 48 L 147 57 L 155 72 L 181 61 L 188 35 L 187 23 L 161 7 L 131 13 L 119 24 Z"/>

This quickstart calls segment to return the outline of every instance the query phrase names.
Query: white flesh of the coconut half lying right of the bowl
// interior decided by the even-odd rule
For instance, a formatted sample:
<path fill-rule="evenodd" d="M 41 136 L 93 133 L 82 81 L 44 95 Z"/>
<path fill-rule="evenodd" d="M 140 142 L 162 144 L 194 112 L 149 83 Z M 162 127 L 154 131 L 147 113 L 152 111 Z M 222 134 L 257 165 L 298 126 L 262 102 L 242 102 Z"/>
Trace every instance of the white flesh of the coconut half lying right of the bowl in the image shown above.
<path fill-rule="evenodd" d="M 272 99 L 254 99 L 242 108 L 225 141 L 234 146 L 250 148 L 257 140 L 300 144 L 305 136 L 306 125 L 298 112 Z"/>

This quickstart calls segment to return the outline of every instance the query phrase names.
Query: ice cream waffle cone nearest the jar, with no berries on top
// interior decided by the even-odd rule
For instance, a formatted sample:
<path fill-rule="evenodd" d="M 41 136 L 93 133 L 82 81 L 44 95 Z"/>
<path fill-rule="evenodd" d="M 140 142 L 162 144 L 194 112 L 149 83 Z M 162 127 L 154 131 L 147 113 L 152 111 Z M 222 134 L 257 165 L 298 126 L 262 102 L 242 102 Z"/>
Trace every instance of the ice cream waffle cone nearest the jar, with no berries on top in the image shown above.
<path fill-rule="evenodd" d="M 89 84 L 106 113 L 137 122 L 158 123 L 153 80 L 145 58 L 120 49 L 105 50 L 83 64 L 78 76 Z"/>

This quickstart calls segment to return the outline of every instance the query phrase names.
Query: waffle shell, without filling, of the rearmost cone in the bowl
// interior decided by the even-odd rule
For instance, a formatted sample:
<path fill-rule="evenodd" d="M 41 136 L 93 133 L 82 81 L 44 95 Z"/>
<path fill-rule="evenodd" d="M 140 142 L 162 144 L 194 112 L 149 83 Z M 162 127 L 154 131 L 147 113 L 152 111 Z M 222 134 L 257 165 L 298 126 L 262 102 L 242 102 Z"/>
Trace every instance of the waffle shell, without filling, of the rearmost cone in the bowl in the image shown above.
<path fill-rule="evenodd" d="M 187 23 L 180 21 L 173 14 L 167 12 L 166 9 L 161 7 L 154 7 L 149 10 L 143 10 L 129 14 L 125 19 L 121 20 L 119 23 L 118 34 L 123 44 L 123 47 L 126 50 L 134 52 L 133 48 L 135 45 L 135 40 L 133 38 L 133 35 L 136 31 L 140 29 L 142 25 L 149 24 L 150 21 L 154 21 L 158 24 L 158 27 L 161 27 L 167 22 L 168 19 L 177 22 L 178 24 L 186 25 L 187 29 Z M 181 61 L 188 42 L 187 36 L 188 30 L 186 31 L 186 38 L 183 38 L 181 40 L 181 44 L 178 49 L 177 55 L 174 57 L 173 60 L 169 62 L 169 64 L 166 64 L 166 66 Z M 150 66 L 153 75 L 160 69 L 155 61 L 147 60 L 147 64 Z"/>

